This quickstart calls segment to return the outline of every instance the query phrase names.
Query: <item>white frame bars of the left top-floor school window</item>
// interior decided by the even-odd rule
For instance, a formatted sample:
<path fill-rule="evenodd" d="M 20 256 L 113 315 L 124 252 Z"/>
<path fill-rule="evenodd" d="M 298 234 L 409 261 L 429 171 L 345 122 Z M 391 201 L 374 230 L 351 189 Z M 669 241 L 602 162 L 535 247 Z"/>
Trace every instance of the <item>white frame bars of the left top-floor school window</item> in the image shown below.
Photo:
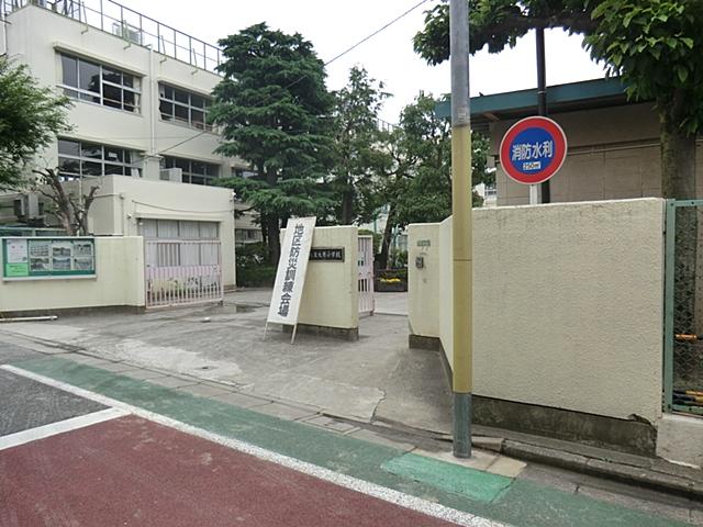
<path fill-rule="evenodd" d="M 58 52 L 58 56 L 60 58 L 62 65 L 62 77 L 58 86 L 64 90 L 64 94 L 82 102 L 87 102 L 89 104 L 98 104 L 104 108 L 112 108 L 114 110 L 120 110 L 126 113 L 132 114 L 142 114 L 142 77 L 135 74 L 131 74 L 129 71 L 124 71 L 123 69 L 116 68 L 114 66 L 102 64 L 97 60 L 91 60 L 88 58 L 80 57 L 78 55 L 72 55 L 70 53 Z M 74 75 L 76 77 L 76 86 L 71 86 L 65 82 L 66 71 L 65 71 L 65 59 L 75 60 L 76 69 Z M 89 90 L 86 88 L 81 88 L 81 78 L 80 78 L 80 65 L 86 64 L 98 68 L 100 82 L 99 89 L 97 91 Z M 105 70 L 109 74 L 120 74 L 120 83 L 107 80 L 105 79 Z M 131 78 L 131 85 L 125 83 L 125 76 Z M 105 87 L 120 90 L 120 100 L 105 97 Z M 131 93 L 134 98 L 134 102 L 126 102 L 125 93 Z M 105 103 L 109 101 L 109 103 Z"/>

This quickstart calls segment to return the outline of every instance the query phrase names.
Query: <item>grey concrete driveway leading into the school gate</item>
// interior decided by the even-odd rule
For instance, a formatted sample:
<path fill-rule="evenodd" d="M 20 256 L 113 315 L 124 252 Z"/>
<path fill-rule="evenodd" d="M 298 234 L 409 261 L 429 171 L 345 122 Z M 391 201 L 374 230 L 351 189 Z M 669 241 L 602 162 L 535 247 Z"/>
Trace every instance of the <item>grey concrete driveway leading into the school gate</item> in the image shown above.
<path fill-rule="evenodd" d="M 386 294 L 379 295 L 379 309 L 402 313 L 405 295 Z M 301 334 L 291 346 L 281 333 L 269 332 L 264 340 L 269 296 L 269 290 L 246 290 L 227 294 L 223 306 L 65 316 L 49 324 L 4 324 L 0 333 L 216 381 L 362 423 L 450 433 L 439 356 L 408 349 L 405 317 L 361 318 L 357 343 Z"/>

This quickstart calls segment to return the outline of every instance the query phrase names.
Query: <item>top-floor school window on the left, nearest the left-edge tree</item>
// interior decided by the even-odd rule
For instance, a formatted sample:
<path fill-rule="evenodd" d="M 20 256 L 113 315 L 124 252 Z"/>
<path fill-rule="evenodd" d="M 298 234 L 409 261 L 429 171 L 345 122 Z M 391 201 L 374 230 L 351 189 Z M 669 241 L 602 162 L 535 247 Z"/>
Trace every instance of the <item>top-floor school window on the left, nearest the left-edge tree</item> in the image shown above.
<path fill-rule="evenodd" d="M 59 54 L 64 93 L 72 99 L 140 113 L 142 79 L 112 66 Z"/>

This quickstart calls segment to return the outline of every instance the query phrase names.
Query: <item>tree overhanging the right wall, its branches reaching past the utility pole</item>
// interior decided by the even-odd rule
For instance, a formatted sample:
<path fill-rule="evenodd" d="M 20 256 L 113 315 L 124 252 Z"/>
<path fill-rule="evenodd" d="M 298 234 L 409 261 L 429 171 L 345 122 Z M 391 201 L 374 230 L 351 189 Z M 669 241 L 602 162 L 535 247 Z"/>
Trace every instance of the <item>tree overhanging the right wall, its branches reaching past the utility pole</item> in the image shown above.
<path fill-rule="evenodd" d="M 695 197 L 695 137 L 703 124 L 700 0 L 470 0 L 471 53 L 514 45 L 534 27 L 584 35 L 594 58 L 621 75 L 633 100 L 657 102 L 665 198 Z M 414 37 L 431 64 L 449 55 L 448 8 L 428 11 Z"/>

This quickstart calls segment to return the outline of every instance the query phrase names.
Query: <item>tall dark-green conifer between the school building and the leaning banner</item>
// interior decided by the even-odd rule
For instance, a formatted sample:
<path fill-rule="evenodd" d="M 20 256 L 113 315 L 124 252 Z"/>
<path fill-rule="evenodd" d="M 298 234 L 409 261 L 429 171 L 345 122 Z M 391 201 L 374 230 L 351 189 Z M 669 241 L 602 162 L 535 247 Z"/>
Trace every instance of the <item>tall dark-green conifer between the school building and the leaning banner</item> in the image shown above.
<path fill-rule="evenodd" d="M 320 182 L 332 164 L 333 97 L 324 64 L 302 35 L 256 24 L 220 41 L 224 79 L 214 89 L 217 152 L 247 160 L 256 176 L 231 187 L 260 215 L 271 262 L 280 255 L 281 222 L 325 216 L 334 202 Z"/>

